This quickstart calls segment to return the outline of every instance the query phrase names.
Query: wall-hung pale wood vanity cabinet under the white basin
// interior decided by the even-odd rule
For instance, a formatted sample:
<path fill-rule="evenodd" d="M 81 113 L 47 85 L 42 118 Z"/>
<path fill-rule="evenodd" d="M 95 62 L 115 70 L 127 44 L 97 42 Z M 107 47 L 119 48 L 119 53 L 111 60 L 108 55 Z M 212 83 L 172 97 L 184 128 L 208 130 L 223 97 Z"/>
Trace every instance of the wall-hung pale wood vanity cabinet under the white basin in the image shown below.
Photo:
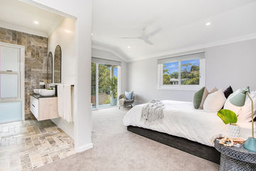
<path fill-rule="evenodd" d="M 30 95 L 30 111 L 38 121 L 59 117 L 57 112 L 57 97 L 44 97 L 42 95 Z"/>

